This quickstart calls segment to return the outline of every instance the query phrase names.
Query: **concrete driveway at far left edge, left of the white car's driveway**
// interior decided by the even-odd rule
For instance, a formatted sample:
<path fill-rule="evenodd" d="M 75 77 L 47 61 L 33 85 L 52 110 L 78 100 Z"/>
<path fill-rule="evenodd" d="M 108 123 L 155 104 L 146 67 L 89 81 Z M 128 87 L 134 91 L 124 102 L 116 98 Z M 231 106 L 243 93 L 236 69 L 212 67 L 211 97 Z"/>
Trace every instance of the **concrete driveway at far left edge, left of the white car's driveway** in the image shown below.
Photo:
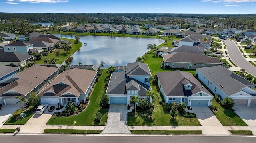
<path fill-rule="evenodd" d="M 20 107 L 21 105 L 3 105 L 3 108 L 0 110 L 0 128 L 12 117 L 12 113 Z"/>

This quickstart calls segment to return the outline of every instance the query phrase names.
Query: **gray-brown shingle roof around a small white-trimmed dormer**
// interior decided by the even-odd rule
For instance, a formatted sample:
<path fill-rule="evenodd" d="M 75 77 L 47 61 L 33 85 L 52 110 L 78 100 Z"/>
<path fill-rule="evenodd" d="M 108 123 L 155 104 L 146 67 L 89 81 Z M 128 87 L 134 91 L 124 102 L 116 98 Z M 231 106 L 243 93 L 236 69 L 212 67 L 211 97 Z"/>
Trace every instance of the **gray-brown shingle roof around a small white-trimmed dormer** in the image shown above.
<path fill-rule="evenodd" d="M 209 95 L 210 92 L 191 74 L 184 71 L 156 73 L 166 96 L 191 96 L 200 91 Z M 183 83 L 192 84 L 191 90 L 185 90 Z M 185 84 L 186 85 L 186 84 Z"/>

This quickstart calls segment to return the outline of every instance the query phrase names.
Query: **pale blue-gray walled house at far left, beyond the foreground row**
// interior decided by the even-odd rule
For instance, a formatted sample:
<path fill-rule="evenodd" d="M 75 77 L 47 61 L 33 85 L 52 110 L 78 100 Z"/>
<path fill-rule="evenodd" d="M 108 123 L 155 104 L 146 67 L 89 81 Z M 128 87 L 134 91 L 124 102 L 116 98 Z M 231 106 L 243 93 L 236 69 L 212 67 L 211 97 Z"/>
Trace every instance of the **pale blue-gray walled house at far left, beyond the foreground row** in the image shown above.
<path fill-rule="evenodd" d="M 14 52 L 14 53 L 28 53 L 30 49 L 33 49 L 33 44 L 26 42 L 13 42 L 7 45 L 4 45 L 4 52 Z"/>

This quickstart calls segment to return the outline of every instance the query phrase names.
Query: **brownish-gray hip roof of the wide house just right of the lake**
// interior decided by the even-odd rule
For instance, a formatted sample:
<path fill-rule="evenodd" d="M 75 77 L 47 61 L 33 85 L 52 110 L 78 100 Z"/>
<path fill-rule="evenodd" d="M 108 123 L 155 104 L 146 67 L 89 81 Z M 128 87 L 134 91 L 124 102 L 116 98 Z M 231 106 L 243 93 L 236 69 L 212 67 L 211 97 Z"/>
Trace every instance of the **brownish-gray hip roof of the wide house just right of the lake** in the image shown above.
<path fill-rule="evenodd" d="M 180 63 L 215 63 L 220 64 L 220 59 L 212 58 L 203 53 L 170 53 L 163 55 L 164 62 L 180 62 Z"/>

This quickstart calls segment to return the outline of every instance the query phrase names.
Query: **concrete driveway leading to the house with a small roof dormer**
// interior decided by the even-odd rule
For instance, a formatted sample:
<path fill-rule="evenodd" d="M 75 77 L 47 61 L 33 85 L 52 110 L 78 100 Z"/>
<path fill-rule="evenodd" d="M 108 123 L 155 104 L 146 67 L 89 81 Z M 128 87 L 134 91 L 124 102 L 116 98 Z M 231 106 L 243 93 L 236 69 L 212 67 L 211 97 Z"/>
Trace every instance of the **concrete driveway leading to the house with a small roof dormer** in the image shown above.
<path fill-rule="evenodd" d="M 203 134 L 231 134 L 215 117 L 209 107 L 192 107 L 202 125 Z"/>

